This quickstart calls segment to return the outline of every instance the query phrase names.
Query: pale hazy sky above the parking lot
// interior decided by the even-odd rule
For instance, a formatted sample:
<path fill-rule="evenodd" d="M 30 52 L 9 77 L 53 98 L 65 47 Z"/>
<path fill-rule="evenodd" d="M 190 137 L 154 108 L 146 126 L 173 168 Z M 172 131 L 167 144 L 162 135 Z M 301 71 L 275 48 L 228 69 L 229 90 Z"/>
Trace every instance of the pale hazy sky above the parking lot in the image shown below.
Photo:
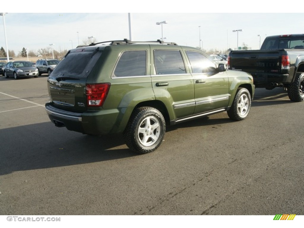
<path fill-rule="evenodd" d="M 94 3 L 94 1 L 90 2 Z M 191 5 L 191 1 L 187 2 Z M 223 2 L 226 5 L 229 1 Z M 188 4 L 185 6 L 185 12 L 188 13 L 174 13 L 181 12 L 183 8 L 176 2 L 172 7 L 168 2 L 160 4 L 166 7 L 159 9 L 155 5 L 159 2 L 154 2 L 154 9 L 159 13 L 148 13 L 147 10 L 142 10 L 144 13 L 140 13 L 141 9 L 134 10 L 136 8 L 132 6 L 134 8 L 133 12 L 138 11 L 137 13 L 131 13 L 132 40 L 161 39 L 161 25 L 156 25 L 156 22 L 161 21 L 167 22 L 167 24 L 163 24 L 165 41 L 192 47 L 201 45 L 205 50 L 234 49 L 237 47 L 237 43 L 238 46 L 245 43 L 252 49 L 258 49 L 260 47 L 260 37 L 262 43 L 264 38 L 270 35 L 303 33 L 300 24 L 304 18 L 304 13 L 283 13 L 284 9 L 275 10 L 273 8 L 271 8 L 271 12 L 267 7 L 258 10 L 257 2 L 254 3 L 255 8 L 252 7 L 252 12 L 250 12 L 248 10 L 250 5 L 246 6 L 244 1 L 242 2 L 242 5 L 222 7 L 221 1 L 215 1 L 212 3 L 213 7 L 209 8 L 202 8 L 207 4 L 202 2 L 199 8 L 202 10 L 196 8 L 194 8 L 196 10 L 190 10 Z M 95 3 L 95 7 L 93 9 L 92 7 L 87 8 L 88 10 L 84 9 L 86 6 L 75 8 L 76 2 L 73 3 L 74 7 L 67 7 L 68 5 L 58 7 L 54 4 L 51 8 L 52 12 L 46 10 L 43 13 L 32 12 L 34 6 L 35 9 L 39 9 L 35 2 L 32 5 L 27 5 L 29 2 L 26 2 L 24 6 L 26 10 L 22 10 L 23 12 L 19 12 L 20 8 L 16 8 L 16 11 L 12 11 L 15 8 L 4 8 L 5 12 L 9 12 L 5 15 L 8 49 L 14 50 L 15 54 L 18 54 L 23 47 L 37 51 L 40 48 L 50 47 L 49 44 L 54 43 L 54 50 L 61 51 L 71 49 L 72 45 L 75 48 L 78 45 L 78 36 L 79 44 L 82 44 L 82 41 L 87 40 L 89 36 L 94 36 L 97 42 L 129 38 L 128 11 L 132 12 L 132 8 L 130 4 L 124 7 L 124 3 L 116 7 L 115 3 L 116 1 L 106 2 L 106 4 L 102 4 L 102 7 L 98 6 L 100 3 Z M 192 3 L 192 5 L 195 4 Z M 66 13 L 56 12 L 58 8 L 62 8 L 61 10 Z M 243 8 L 244 10 L 236 10 Z M 43 9 L 43 7 L 40 7 L 40 9 Z M 99 11 L 98 9 L 100 9 L 100 13 L 96 12 Z M 109 13 L 102 12 L 105 9 L 109 9 Z M 82 10 L 90 13 L 83 13 Z M 114 10 L 116 12 L 112 12 Z M 190 13 L 189 11 L 193 12 Z M 278 13 L 273 13 L 274 11 Z M 238 40 L 237 32 L 233 32 L 236 29 L 242 29 L 242 32 L 238 32 Z M 201 37 L 201 43 L 199 37 Z M 0 46 L 6 49 L 2 16 L 0 16 Z"/>

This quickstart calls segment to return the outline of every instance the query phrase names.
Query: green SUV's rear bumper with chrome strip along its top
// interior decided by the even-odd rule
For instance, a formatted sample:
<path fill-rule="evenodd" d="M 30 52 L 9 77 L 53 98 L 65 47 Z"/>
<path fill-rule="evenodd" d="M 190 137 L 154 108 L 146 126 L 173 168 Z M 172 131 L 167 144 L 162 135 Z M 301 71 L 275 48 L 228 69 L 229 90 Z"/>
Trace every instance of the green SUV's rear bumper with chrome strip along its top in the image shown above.
<path fill-rule="evenodd" d="M 58 109 L 51 102 L 45 104 L 45 109 L 55 126 L 66 127 L 67 130 L 92 135 L 120 133 L 118 109 L 78 113 Z"/>

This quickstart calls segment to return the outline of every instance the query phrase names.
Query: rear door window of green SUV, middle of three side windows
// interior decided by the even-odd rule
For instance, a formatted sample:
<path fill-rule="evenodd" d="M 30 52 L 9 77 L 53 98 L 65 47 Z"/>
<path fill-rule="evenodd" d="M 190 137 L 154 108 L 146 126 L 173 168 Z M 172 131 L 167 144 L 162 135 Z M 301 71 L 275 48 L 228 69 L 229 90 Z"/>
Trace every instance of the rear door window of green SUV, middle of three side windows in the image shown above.
<path fill-rule="evenodd" d="M 185 74 L 185 64 L 179 50 L 155 50 L 156 74 Z"/>

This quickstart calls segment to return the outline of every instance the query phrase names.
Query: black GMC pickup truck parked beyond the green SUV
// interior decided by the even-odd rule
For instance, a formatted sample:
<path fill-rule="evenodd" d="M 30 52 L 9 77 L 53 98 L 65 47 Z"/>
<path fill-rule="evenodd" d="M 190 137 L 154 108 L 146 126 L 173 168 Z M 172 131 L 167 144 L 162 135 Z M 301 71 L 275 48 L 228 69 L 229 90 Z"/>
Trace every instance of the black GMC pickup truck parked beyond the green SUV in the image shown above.
<path fill-rule="evenodd" d="M 290 100 L 304 100 L 304 34 L 268 36 L 261 50 L 230 51 L 227 65 L 250 73 L 256 88 L 284 87 Z"/>

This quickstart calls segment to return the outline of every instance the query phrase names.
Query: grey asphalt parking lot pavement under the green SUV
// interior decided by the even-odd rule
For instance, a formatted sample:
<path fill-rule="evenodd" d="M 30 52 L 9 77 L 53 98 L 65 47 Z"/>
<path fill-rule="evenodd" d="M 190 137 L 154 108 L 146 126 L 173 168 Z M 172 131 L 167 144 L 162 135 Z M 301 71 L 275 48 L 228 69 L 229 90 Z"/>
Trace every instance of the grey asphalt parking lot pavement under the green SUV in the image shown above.
<path fill-rule="evenodd" d="M 168 126 L 137 155 L 122 135 L 57 128 L 47 76 L 0 77 L 0 215 L 304 214 L 304 102 L 256 89 L 250 114 Z"/>

